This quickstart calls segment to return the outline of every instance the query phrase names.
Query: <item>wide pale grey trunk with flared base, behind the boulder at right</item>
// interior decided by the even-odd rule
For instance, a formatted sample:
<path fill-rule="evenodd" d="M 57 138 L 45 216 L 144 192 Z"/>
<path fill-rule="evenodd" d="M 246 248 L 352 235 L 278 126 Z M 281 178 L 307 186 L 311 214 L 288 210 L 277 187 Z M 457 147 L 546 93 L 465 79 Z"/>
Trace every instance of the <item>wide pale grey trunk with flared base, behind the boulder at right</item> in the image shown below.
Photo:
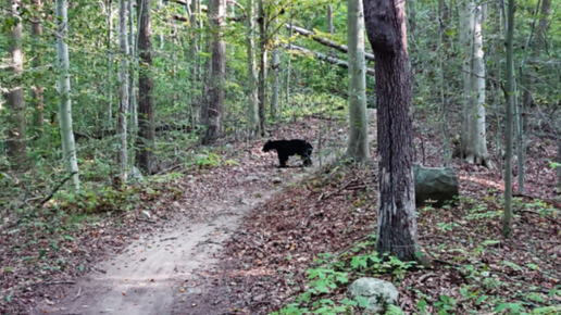
<path fill-rule="evenodd" d="M 485 135 L 485 61 L 483 58 L 482 7 L 464 0 L 460 8 L 460 41 L 463 60 L 463 122 L 460 151 L 469 163 L 493 168 Z"/>

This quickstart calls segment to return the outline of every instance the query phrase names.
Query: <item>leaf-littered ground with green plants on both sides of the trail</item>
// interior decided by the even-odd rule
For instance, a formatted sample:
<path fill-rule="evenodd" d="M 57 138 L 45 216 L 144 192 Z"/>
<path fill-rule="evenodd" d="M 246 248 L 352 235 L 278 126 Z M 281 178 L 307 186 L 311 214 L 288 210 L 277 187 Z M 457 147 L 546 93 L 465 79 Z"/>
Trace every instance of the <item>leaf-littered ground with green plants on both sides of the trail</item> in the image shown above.
<path fill-rule="evenodd" d="M 346 130 L 335 121 L 308 117 L 272 133 L 272 137 L 321 138 L 325 147 L 315 152 L 325 154 L 337 141 L 340 148 L 337 136 Z M 415 148 L 422 142 L 432 152 L 441 148 L 436 133 L 423 133 L 415 138 Z M 199 148 L 198 163 L 124 190 L 105 188 L 105 193 L 90 197 L 96 206 L 55 194 L 34 214 L 4 217 L 9 219 L 0 234 L 0 313 L 21 314 L 38 300 L 57 301 L 63 294 L 58 287 L 95 269 L 96 262 L 141 235 L 179 217 L 201 219 L 204 204 L 239 186 L 245 169 L 259 168 L 260 176 L 272 176 L 244 180 L 249 182 L 248 193 L 290 180 L 298 167 L 277 172 L 276 156 L 260 152 L 263 141 L 224 139 L 213 148 Z M 552 142 L 536 141 L 539 146 L 528 150 L 527 193 L 515 199 L 510 239 L 501 236 L 499 171 L 454 160 L 461 189 L 458 204 L 417 210 L 420 242 L 433 257 L 433 268 L 381 261 L 373 251 L 377 168 L 332 163 L 248 214 L 227 242 L 221 265 L 208 274 L 215 290 L 196 297 L 196 308 L 361 314 L 360 303 L 347 297 L 346 288 L 358 277 L 374 276 L 396 284 L 398 306 L 406 314 L 559 314 L 561 218 L 556 174 L 549 165 L 556 151 Z M 419 160 L 419 149 L 416 153 Z M 441 159 L 425 156 L 424 164 L 439 166 Z M 195 311 L 185 305 L 187 301 L 178 302 L 185 311 L 180 314 Z"/>

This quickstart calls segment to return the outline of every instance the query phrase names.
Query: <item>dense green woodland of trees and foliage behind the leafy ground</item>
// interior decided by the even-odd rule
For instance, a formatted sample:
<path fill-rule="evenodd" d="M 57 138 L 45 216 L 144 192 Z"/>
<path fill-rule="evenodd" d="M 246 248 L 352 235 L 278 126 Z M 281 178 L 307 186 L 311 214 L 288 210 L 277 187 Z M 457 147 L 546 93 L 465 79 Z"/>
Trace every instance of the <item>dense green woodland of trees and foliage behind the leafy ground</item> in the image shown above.
<path fill-rule="evenodd" d="M 514 20 L 504 1 L 407 2 L 414 160 L 483 177 L 496 169 L 486 180 L 514 176 L 507 187 L 519 197 L 554 205 L 561 188 L 561 172 L 554 187 L 561 163 L 561 3 L 512 3 Z M 346 122 L 347 9 L 347 1 L 306 0 L 2 2 L 2 234 L 37 226 L 46 215 L 67 224 L 132 210 L 138 191 L 120 187 L 139 180 L 140 173 L 154 175 L 142 188 L 150 191 L 178 169 L 234 164 L 221 155 L 224 148 L 245 141 L 236 148 L 248 150 L 250 141 L 275 135 L 283 124 Z M 365 50 L 365 101 L 374 109 L 367 41 Z M 319 144 L 317 155 L 335 151 L 322 139 L 309 140 Z M 539 209 L 541 218 L 559 225 L 558 212 Z M 453 227 L 447 223 L 439 230 Z M 551 263 L 561 253 L 549 254 Z M 529 264 L 524 268 L 537 269 Z M 8 264 L 1 267 L 8 277 Z M 548 273 L 536 281 L 540 288 L 560 278 Z M 3 289 L 4 300 L 13 295 Z M 550 299 L 521 305 L 559 304 L 558 291 L 539 293 Z M 438 308 L 435 301 L 434 310 L 450 304 L 442 300 Z M 514 307 L 501 301 L 501 310 Z"/>

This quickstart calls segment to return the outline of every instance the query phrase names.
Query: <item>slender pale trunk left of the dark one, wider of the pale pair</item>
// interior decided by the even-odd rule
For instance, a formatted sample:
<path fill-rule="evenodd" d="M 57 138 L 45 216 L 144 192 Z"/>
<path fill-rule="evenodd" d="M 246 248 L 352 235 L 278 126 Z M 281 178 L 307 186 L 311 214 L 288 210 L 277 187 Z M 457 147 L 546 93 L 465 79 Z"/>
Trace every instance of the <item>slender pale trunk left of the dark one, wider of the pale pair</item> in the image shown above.
<path fill-rule="evenodd" d="M 121 167 L 121 179 L 126 181 L 128 169 L 128 144 L 126 115 L 128 112 L 128 38 L 126 32 L 126 0 L 119 0 L 119 46 L 121 48 L 121 68 L 119 73 L 119 117 L 117 135 L 120 137 L 119 165 Z"/>

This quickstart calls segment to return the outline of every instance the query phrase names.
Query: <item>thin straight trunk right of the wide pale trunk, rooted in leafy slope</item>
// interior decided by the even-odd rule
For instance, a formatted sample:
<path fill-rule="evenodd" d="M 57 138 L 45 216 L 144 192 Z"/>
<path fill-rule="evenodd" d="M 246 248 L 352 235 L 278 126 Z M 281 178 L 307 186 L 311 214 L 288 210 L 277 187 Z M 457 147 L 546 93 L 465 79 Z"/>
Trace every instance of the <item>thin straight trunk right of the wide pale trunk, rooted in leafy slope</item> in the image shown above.
<path fill-rule="evenodd" d="M 502 234 L 510 236 L 512 230 L 512 114 L 514 108 L 514 0 L 509 0 L 507 26 L 507 122 L 506 122 L 506 153 L 504 153 L 504 213 Z"/>

